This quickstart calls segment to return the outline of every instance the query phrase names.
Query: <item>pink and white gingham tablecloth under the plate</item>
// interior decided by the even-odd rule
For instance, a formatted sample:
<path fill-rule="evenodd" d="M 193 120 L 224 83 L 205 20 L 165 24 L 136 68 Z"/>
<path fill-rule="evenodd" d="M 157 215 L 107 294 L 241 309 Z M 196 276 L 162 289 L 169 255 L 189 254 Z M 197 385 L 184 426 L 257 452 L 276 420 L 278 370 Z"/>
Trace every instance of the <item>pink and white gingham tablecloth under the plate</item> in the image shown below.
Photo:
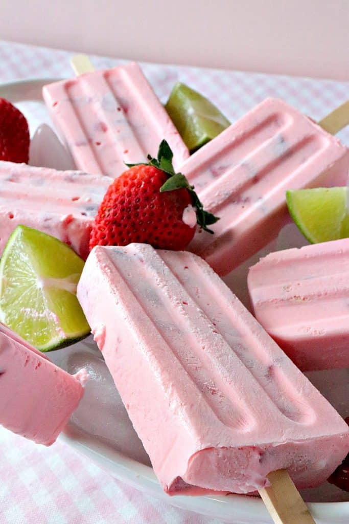
<path fill-rule="evenodd" d="M 0 83 L 72 75 L 66 51 L 0 42 Z M 97 68 L 118 60 L 92 57 Z M 162 101 L 181 80 L 216 103 L 231 121 L 266 96 L 314 119 L 349 98 L 349 83 L 142 64 Z M 349 144 L 349 129 L 339 137 Z M 37 446 L 0 427 L 0 524 L 218 524 L 115 481 L 62 442 Z"/>

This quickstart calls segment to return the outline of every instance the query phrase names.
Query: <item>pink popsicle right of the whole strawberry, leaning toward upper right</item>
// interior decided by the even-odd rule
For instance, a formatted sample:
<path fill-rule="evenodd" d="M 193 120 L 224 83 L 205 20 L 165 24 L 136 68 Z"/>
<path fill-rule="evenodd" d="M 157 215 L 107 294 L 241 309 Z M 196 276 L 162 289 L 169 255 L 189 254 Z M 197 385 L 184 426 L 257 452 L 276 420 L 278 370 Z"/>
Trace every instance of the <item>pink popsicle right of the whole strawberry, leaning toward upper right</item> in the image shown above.
<path fill-rule="evenodd" d="M 345 185 L 349 151 L 277 99 L 266 99 L 179 168 L 215 232 L 197 233 L 188 250 L 226 275 L 275 238 L 288 219 L 287 189 Z"/>

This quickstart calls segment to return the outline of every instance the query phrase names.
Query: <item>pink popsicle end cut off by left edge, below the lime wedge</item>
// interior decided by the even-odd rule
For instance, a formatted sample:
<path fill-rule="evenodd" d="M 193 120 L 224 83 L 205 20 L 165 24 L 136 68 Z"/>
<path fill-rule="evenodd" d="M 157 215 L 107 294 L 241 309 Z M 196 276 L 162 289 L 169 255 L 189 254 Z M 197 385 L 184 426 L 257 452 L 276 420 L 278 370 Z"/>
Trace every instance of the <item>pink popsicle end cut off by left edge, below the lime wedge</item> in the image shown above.
<path fill-rule="evenodd" d="M 69 375 L 0 323 L 0 424 L 38 444 L 57 439 L 87 373 Z"/>

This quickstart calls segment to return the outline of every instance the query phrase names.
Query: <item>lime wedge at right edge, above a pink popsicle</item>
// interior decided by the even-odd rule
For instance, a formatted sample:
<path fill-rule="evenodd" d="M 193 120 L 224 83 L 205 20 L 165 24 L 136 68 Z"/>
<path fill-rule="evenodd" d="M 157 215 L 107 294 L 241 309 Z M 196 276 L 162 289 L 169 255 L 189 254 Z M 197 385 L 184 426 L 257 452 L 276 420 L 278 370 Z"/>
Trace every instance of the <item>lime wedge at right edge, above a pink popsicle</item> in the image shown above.
<path fill-rule="evenodd" d="M 286 192 L 288 210 L 312 244 L 349 237 L 347 188 L 299 189 Z"/>

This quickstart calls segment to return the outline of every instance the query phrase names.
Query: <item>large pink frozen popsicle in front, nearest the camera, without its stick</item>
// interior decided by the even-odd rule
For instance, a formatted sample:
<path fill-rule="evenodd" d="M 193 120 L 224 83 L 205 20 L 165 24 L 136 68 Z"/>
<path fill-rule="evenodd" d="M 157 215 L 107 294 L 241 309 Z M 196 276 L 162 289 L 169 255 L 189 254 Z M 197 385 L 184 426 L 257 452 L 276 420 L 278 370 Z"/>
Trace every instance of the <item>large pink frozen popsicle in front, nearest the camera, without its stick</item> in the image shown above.
<path fill-rule="evenodd" d="M 97 246 L 77 296 L 170 495 L 252 492 L 279 468 L 316 486 L 343 460 L 347 424 L 196 255 Z"/>

